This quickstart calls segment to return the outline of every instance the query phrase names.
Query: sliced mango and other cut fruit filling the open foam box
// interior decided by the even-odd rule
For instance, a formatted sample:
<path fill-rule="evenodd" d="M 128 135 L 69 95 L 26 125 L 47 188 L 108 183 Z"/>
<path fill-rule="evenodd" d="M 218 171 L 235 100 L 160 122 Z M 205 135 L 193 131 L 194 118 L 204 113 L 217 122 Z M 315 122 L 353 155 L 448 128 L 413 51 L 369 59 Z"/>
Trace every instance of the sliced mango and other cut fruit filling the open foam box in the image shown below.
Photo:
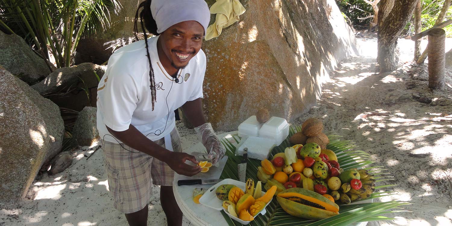
<path fill-rule="evenodd" d="M 215 194 L 223 201 L 222 207 L 225 212 L 242 221 L 253 221 L 254 217 L 272 200 L 277 188 L 273 186 L 262 195 L 260 181 L 254 187 L 253 179 L 248 179 L 245 186 L 246 189 L 243 191 L 234 184 L 223 184 L 218 186 Z"/>

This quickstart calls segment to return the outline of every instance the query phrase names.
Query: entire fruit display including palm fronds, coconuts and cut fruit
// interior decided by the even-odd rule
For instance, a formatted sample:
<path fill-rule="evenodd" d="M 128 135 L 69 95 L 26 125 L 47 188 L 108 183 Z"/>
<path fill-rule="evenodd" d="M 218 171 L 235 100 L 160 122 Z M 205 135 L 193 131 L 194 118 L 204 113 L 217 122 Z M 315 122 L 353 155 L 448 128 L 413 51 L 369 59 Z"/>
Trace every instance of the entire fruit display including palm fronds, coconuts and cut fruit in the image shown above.
<path fill-rule="evenodd" d="M 254 225 L 287 226 L 311 224 L 312 220 L 322 219 L 325 220 L 313 224 L 384 221 L 392 218 L 382 215 L 397 212 L 391 208 L 409 204 L 400 200 L 379 202 L 374 199 L 353 205 L 352 202 L 358 200 L 392 195 L 374 191 L 395 184 L 376 187 L 376 182 L 392 180 L 386 179 L 391 177 L 385 175 L 389 173 L 381 172 L 385 170 L 381 166 L 368 166 L 374 163 L 372 157 L 364 151 L 354 151 L 357 146 L 353 141 L 341 140 L 335 134 L 327 136 L 322 131 L 321 120 L 315 118 L 306 120 L 301 126 L 291 126 L 289 137 L 273 149 L 271 157 L 262 161 L 248 160 L 246 173 L 254 181 L 249 179 L 246 184 L 241 183 L 241 189 L 232 185 L 237 178 L 234 167 L 243 159 L 235 156 L 235 145 L 240 143 L 241 137 L 223 139 L 226 155 L 231 161 L 226 163 L 230 170 L 223 171 L 221 176 L 232 180 L 224 186 L 216 186 L 215 194 L 215 190 L 209 189 L 206 197 L 214 200 L 216 209 L 224 210 L 221 214 L 229 225 L 237 225 L 231 219 L 244 225 L 253 221 L 251 224 Z M 202 196 L 200 193 L 202 191 L 193 191 L 193 197 Z M 261 199 L 258 194 L 262 195 Z"/>

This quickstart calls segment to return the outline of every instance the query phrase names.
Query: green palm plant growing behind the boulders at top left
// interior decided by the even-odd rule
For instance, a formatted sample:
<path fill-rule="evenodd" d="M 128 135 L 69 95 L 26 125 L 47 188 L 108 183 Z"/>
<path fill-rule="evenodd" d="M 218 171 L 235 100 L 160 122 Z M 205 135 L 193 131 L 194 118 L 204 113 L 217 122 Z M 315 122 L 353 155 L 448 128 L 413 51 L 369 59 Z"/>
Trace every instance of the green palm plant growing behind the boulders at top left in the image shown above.
<path fill-rule="evenodd" d="M 58 68 L 71 66 L 80 38 L 109 27 L 117 0 L 0 0 L 0 28 L 24 38 Z"/>

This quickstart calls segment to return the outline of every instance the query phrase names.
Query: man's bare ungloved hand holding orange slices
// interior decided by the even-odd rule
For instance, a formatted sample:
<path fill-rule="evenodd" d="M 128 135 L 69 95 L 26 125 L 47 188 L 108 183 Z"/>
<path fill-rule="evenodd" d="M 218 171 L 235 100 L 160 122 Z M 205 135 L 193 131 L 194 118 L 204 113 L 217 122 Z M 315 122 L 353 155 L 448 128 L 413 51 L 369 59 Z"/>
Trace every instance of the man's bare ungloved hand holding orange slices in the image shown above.
<path fill-rule="evenodd" d="M 168 155 L 165 157 L 166 164 L 168 164 L 170 168 L 173 169 L 174 172 L 178 174 L 191 177 L 201 172 L 202 170 L 201 166 L 188 165 L 185 163 L 185 160 L 190 160 L 194 164 L 198 164 L 198 161 L 196 160 L 195 156 L 188 155 L 187 153 L 184 152 L 170 151 Z"/>

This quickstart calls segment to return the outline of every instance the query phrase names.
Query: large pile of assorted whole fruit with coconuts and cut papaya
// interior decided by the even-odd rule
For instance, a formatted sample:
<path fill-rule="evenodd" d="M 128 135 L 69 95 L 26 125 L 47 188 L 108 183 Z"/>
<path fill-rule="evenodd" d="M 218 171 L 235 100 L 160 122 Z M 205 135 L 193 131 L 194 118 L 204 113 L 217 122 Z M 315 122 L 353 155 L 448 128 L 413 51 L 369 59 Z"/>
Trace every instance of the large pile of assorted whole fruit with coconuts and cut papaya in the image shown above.
<path fill-rule="evenodd" d="M 295 145 L 262 160 L 257 172 L 265 189 L 276 187 L 284 211 L 314 220 L 337 215 L 337 203 L 369 198 L 375 190 L 375 179 L 366 170 L 340 168 L 334 151 L 326 149 L 329 140 L 319 121 L 306 120 L 301 132 L 290 138 Z"/>

